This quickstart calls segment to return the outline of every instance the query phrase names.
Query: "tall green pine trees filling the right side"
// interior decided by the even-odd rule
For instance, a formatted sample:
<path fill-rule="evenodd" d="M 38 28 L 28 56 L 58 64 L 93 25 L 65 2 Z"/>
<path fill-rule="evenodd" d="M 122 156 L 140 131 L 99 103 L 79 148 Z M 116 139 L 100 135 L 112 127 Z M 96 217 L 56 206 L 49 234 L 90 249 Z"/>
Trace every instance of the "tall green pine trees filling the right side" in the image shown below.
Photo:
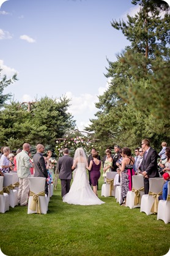
<path fill-rule="evenodd" d="M 142 138 L 150 138 L 152 146 L 160 149 L 161 141 L 169 137 L 169 14 L 167 4 L 158 1 L 132 1 L 140 4 L 128 21 L 113 21 L 131 45 L 108 60 L 106 77 L 111 80 L 108 90 L 96 104 L 97 119 L 86 130 L 102 138 L 102 144 L 136 148 Z M 161 16 L 161 10 L 166 10 Z"/>

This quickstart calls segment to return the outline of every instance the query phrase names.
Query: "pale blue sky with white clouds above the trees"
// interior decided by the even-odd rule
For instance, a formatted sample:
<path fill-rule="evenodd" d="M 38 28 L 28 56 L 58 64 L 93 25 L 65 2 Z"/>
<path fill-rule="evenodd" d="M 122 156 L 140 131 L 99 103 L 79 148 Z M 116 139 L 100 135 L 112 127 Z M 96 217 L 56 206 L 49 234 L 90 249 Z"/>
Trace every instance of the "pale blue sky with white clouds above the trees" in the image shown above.
<path fill-rule="evenodd" d="M 0 9 L 0 66 L 18 81 L 4 92 L 31 101 L 64 95 L 80 130 L 95 118 L 106 67 L 128 41 L 112 20 L 135 13 L 130 0 L 9 0 Z"/>

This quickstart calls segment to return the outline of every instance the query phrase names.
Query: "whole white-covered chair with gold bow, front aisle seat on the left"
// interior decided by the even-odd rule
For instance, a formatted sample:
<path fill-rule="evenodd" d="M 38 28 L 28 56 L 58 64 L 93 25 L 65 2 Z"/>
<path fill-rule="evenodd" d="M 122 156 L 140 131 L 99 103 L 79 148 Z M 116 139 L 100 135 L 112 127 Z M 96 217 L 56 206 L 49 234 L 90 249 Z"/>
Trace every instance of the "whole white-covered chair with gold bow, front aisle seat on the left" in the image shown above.
<path fill-rule="evenodd" d="M 48 211 L 48 197 L 45 194 L 46 178 L 31 177 L 28 179 L 30 187 L 28 200 L 28 214 L 46 214 Z"/>

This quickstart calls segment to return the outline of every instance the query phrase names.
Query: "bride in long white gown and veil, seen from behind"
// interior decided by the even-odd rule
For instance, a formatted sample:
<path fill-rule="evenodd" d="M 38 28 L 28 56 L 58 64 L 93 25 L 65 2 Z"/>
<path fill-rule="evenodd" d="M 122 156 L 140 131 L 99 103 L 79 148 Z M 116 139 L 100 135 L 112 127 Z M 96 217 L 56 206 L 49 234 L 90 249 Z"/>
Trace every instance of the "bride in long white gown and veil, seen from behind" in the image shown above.
<path fill-rule="evenodd" d="M 72 166 L 72 170 L 76 168 L 76 174 L 70 191 L 62 198 L 65 203 L 73 205 L 102 205 L 102 203 L 105 203 L 91 189 L 87 178 L 87 167 L 87 157 L 84 149 L 76 149 Z"/>

